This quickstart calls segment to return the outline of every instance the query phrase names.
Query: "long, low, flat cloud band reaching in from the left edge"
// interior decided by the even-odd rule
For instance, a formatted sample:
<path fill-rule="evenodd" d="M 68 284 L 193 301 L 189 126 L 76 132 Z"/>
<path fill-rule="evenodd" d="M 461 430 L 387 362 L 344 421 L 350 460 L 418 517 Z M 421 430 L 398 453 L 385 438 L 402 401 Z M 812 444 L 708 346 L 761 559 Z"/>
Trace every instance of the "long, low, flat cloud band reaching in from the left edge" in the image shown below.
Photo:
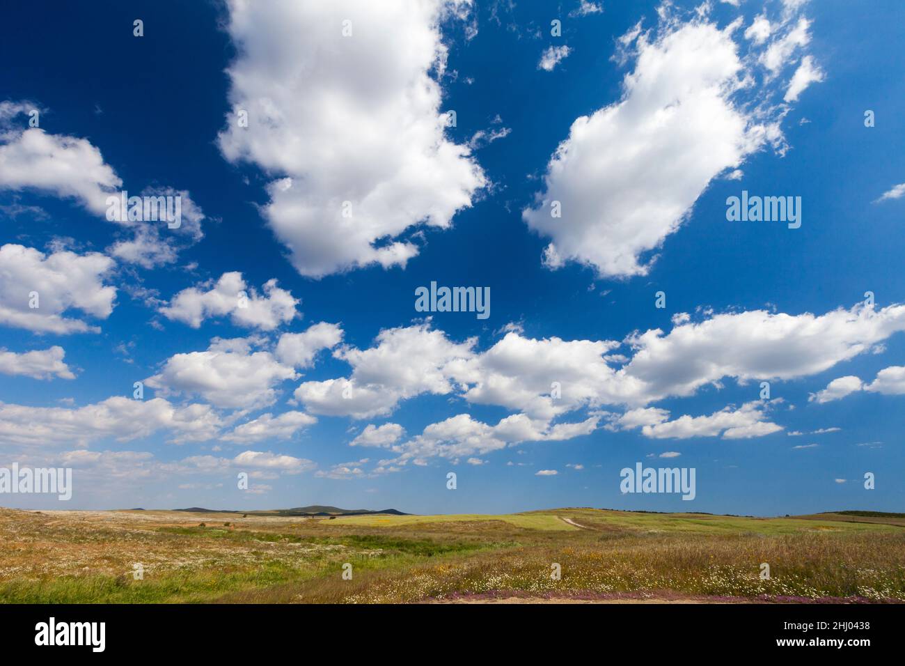
<path fill-rule="evenodd" d="M 14 444 L 87 446 L 101 439 L 146 438 L 158 430 L 169 432 L 174 442 L 203 441 L 220 426 L 207 405 L 176 407 L 162 398 L 113 397 L 76 409 L 0 403 L 0 441 Z"/>

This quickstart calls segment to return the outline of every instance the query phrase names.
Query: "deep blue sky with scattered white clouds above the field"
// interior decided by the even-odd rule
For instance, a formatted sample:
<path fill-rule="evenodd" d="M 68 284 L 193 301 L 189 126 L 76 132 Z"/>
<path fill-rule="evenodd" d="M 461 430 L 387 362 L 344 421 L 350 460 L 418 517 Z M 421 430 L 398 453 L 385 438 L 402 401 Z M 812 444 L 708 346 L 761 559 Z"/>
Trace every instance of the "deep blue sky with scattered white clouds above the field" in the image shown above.
<path fill-rule="evenodd" d="M 899 4 L 41 5 L 0 27 L 0 465 L 66 508 L 902 510 Z"/>

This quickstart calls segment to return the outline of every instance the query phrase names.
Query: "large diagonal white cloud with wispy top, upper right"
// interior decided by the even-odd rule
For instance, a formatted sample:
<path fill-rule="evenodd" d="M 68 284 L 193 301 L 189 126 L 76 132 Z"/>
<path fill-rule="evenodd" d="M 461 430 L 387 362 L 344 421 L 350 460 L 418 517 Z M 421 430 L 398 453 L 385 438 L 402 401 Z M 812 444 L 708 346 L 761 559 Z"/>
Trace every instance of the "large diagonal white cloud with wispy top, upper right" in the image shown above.
<path fill-rule="evenodd" d="M 756 84 L 757 61 L 739 56 L 740 20 L 720 30 L 706 10 L 684 23 L 668 5 L 661 14 L 659 34 L 636 26 L 620 41 L 623 51 L 635 44 L 622 99 L 573 122 L 544 191 L 522 213 L 552 239 L 544 256 L 551 268 L 574 260 L 599 275 L 647 274 L 643 255 L 681 226 L 712 179 L 767 144 L 782 146 L 782 113 L 765 111 L 779 89 Z M 788 47 L 765 48 L 765 66 L 778 70 Z"/>

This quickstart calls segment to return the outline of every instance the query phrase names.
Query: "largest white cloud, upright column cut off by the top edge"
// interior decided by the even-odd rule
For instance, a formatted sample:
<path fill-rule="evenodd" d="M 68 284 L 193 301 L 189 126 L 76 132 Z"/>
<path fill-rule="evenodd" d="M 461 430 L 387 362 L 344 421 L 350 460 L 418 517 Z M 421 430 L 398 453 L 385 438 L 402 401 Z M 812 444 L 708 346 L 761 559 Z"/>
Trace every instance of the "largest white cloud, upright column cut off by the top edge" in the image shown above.
<path fill-rule="evenodd" d="M 485 185 L 469 148 L 445 137 L 431 75 L 445 63 L 439 24 L 469 5 L 228 2 L 239 56 L 220 148 L 282 177 L 263 212 L 300 274 L 405 265 L 418 248 L 399 236 L 449 227 Z"/>

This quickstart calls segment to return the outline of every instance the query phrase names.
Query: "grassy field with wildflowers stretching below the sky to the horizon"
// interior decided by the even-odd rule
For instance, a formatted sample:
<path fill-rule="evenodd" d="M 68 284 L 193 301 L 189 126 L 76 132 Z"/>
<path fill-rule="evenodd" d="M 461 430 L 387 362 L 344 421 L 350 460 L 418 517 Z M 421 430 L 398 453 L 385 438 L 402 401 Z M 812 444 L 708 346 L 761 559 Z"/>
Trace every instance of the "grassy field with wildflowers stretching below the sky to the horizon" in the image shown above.
<path fill-rule="evenodd" d="M 342 577 L 346 564 L 351 580 Z M 905 519 L 587 508 L 334 519 L 0 509 L 5 603 L 486 597 L 901 602 Z"/>

